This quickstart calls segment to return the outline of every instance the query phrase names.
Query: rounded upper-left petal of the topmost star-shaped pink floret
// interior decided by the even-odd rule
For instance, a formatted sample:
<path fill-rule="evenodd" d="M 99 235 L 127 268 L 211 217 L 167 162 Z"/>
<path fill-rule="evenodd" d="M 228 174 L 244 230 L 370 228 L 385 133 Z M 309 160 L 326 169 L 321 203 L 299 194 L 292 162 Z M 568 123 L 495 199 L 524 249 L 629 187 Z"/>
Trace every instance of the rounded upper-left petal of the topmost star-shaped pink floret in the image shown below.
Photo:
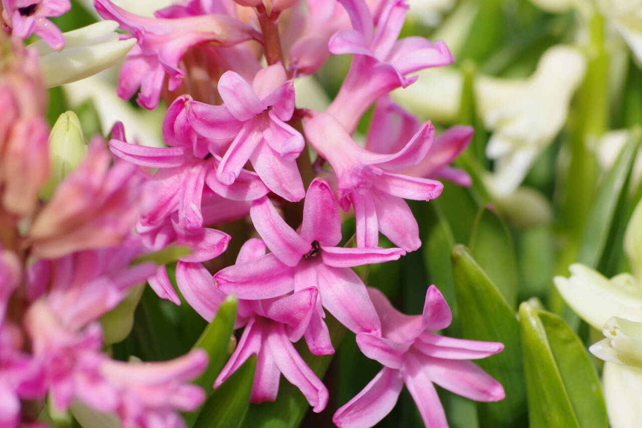
<path fill-rule="evenodd" d="M 250 120 L 265 109 L 252 87 L 234 71 L 223 73 L 218 80 L 218 92 L 225 107 L 240 121 Z"/>

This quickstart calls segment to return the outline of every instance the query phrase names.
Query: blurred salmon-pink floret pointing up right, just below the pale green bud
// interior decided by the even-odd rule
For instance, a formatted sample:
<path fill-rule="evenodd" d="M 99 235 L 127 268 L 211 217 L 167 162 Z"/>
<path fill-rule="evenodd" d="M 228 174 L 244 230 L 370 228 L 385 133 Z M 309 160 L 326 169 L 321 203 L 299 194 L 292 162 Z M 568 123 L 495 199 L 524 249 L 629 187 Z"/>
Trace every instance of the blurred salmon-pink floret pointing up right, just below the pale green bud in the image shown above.
<path fill-rule="evenodd" d="M 102 138 L 56 188 L 29 231 L 33 254 L 56 258 L 88 248 L 110 247 L 125 238 L 139 215 L 143 183 L 139 168 L 112 157 Z"/>

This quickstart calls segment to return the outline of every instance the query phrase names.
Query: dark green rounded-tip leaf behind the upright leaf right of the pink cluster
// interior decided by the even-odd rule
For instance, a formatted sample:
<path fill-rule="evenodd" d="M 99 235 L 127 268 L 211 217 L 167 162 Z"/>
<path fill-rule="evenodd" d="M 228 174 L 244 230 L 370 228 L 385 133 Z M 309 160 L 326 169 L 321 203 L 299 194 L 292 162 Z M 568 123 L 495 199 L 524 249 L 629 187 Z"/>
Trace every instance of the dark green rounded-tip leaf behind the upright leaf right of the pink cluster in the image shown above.
<path fill-rule="evenodd" d="M 508 306 L 517 309 L 517 262 L 510 233 L 488 208 L 477 213 L 469 243 L 474 260 L 488 274 Z"/>

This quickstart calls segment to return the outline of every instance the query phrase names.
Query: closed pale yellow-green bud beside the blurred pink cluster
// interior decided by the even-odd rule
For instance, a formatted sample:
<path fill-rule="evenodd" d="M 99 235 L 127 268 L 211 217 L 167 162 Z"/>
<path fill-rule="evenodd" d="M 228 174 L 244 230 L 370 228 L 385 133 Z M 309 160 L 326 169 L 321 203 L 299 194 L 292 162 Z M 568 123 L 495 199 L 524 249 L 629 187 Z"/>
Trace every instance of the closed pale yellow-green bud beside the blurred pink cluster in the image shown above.
<path fill-rule="evenodd" d="M 40 197 L 48 200 L 56 186 L 76 169 L 87 154 L 87 140 L 82 133 L 80 120 L 73 111 L 61 114 L 49 134 L 49 181 L 40 190 Z"/>

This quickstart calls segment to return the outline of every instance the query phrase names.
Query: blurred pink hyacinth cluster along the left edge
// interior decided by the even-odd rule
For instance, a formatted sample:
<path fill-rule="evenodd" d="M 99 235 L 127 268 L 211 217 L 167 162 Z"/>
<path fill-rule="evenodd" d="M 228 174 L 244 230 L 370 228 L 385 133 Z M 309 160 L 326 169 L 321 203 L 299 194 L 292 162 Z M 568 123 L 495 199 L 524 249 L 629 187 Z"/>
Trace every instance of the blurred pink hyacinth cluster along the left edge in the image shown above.
<path fill-rule="evenodd" d="M 186 385 L 207 365 L 204 351 L 141 363 L 102 352 L 101 317 L 156 269 L 135 263 L 145 249 L 132 233 L 148 178 L 114 162 L 101 137 L 80 165 L 60 168 L 52 156 L 50 168 L 38 53 L 1 35 L 0 46 L 0 425 L 35 423 L 48 397 L 60 411 L 81 402 L 124 427 L 181 426 L 177 412 L 205 398 Z M 52 153 L 73 149 L 56 147 L 62 134 L 51 133 Z M 50 170 L 55 191 L 39 199 Z"/>

